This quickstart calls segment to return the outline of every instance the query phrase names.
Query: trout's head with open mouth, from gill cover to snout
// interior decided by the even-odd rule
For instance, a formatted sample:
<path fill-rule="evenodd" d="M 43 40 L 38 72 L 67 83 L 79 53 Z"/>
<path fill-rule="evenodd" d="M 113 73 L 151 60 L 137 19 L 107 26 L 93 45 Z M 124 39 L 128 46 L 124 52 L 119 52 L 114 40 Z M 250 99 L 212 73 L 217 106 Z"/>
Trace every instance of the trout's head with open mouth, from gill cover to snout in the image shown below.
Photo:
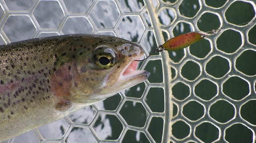
<path fill-rule="evenodd" d="M 138 44 L 113 36 L 91 35 L 75 45 L 80 48 L 75 54 L 78 58 L 71 62 L 72 101 L 103 100 L 150 76 L 149 72 L 136 69 L 138 62 L 134 60 L 144 54 Z"/>

